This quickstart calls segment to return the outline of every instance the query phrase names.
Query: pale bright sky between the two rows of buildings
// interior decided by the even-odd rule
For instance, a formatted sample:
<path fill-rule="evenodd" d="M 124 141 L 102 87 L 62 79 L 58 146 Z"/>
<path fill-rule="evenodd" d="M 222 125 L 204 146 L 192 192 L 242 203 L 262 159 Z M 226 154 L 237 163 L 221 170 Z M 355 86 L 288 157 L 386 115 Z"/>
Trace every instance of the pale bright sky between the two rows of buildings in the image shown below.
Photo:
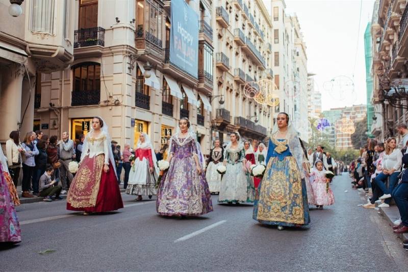
<path fill-rule="evenodd" d="M 287 15 L 296 13 L 299 19 L 307 46 L 308 71 L 316 74 L 316 89 L 322 93 L 322 110 L 367 102 L 364 32 L 374 2 L 285 1 Z"/>

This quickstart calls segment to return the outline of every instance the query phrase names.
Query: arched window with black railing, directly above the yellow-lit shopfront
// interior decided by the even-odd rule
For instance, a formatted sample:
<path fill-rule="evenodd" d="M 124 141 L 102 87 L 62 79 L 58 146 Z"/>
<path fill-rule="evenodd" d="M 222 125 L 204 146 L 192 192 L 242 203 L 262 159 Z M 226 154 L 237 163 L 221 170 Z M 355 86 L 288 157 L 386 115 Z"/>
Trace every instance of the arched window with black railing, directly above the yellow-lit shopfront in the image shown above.
<path fill-rule="evenodd" d="M 72 106 L 94 105 L 100 101 L 100 64 L 87 62 L 72 67 Z"/>

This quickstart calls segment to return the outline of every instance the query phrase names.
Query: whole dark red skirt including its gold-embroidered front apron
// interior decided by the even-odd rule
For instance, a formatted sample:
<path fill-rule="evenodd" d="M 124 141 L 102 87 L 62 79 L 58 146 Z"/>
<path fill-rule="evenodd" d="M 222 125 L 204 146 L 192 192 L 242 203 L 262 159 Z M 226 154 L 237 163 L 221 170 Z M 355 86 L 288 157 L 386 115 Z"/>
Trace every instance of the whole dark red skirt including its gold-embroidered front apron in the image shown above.
<path fill-rule="evenodd" d="M 84 158 L 72 180 L 67 196 L 67 209 L 105 212 L 123 208 L 117 177 L 111 163 L 105 173 L 104 154 Z"/>

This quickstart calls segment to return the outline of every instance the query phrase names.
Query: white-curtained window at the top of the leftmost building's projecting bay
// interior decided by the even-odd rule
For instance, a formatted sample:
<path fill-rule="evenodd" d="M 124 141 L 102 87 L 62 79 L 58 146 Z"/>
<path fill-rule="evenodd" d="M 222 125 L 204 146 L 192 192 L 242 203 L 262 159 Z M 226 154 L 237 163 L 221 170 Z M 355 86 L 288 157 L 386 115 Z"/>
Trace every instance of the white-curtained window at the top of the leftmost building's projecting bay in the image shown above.
<path fill-rule="evenodd" d="M 55 0 L 31 2 L 31 32 L 55 35 Z"/>

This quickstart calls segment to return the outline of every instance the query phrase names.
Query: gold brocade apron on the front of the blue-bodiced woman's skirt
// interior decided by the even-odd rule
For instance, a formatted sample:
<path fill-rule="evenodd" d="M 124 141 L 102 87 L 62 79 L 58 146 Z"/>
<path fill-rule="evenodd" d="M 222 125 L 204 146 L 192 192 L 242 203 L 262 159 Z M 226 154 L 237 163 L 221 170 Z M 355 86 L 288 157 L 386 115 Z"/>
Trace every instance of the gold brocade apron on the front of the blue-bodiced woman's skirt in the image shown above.
<path fill-rule="evenodd" d="M 302 183 L 292 156 L 269 160 L 259 193 L 258 220 L 304 224 Z"/>

